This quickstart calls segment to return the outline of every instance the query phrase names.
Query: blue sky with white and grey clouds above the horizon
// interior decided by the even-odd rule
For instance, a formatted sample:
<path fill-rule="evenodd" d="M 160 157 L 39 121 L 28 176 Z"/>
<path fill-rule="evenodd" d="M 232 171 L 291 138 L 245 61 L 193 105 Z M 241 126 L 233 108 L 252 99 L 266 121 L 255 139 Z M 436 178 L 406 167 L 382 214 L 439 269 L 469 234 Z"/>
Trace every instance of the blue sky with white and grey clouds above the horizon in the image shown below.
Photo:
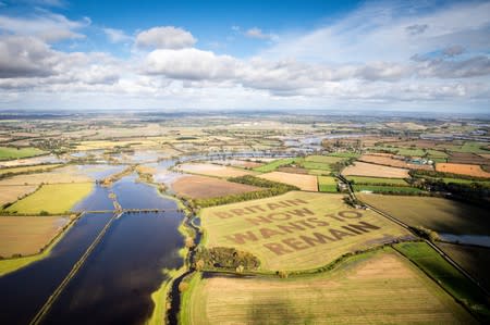
<path fill-rule="evenodd" d="M 490 112 L 490 1 L 0 0 L 0 110 Z"/>

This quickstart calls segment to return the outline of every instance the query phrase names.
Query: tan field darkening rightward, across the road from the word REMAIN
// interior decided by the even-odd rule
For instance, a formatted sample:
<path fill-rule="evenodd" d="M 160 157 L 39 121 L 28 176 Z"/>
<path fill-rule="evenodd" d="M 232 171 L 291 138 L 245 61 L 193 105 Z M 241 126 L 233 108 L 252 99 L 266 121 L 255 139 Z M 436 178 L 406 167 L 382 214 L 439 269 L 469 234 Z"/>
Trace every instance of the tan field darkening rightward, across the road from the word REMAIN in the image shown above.
<path fill-rule="evenodd" d="M 485 209 L 430 197 L 392 197 L 359 193 L 357 197 L 411 226 L 455 235 L 489 235 Z"/>

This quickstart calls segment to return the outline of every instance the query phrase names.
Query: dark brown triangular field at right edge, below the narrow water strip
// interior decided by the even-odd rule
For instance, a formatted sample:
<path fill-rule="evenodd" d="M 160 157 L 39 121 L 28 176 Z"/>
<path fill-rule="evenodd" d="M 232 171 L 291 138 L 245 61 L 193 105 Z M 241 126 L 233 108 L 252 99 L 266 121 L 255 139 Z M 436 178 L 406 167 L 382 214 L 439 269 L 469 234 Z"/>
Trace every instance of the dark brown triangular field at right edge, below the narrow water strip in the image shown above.
<path fill-rule="evenodd" d="M 438 247 L 490 290 L 490 248 L 438 242 Z"/>

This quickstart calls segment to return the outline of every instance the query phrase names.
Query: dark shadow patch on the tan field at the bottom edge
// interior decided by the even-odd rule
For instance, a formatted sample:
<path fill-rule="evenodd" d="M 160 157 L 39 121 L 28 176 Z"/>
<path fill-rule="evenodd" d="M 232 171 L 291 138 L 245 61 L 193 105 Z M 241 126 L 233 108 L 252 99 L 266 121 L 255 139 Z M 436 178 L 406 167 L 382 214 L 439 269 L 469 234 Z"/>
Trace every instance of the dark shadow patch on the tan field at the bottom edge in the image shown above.
<path fill-rule="evenodd" d="M 280 297 L 254 297 L 247 324 L 313 324 L 313 316 Z"/>

